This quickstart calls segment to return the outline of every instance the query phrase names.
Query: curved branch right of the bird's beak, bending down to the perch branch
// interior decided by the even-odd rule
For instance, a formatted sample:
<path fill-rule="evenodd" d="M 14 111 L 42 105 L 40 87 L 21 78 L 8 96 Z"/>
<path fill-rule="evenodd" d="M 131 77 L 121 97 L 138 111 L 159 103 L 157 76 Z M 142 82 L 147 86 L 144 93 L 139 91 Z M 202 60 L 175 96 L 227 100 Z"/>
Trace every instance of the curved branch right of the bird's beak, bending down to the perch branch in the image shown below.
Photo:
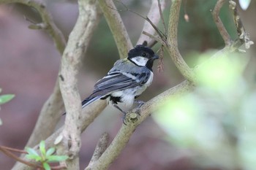
<path fill-rule="evenodd" d="M 167 35 L 167 52 L 178 68 L 179 72 L 189 81 L 195 81 L 194 72 L 189 68 L 178 51 L 178 18 L 181 7 L 181 0 L 172 1 L 169 15 L 169 30 Z"/>

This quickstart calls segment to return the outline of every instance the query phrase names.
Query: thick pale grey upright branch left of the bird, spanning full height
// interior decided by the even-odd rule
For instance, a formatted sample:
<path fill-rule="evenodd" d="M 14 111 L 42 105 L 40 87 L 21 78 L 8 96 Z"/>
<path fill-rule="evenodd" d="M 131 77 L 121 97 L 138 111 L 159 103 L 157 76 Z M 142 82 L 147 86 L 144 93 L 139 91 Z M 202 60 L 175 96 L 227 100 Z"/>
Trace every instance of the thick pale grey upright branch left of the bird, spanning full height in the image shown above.
<path fill-rule="evenodd" d="M 78 20 L 69 35 L 69 41 L 61 60 L 61 74 L 59 75 L 59 85 L 67 112 L 62 131 L 64 138 L 61 147 L 64 147 L 65 154 L 68 151 L 69 158 L 71 158 L 70 161 L 66 162 L 67 169 L 78 169 L 79 167 L 78 152 L 83 122 L 80 119 L 82 110 L 77 75 L 99 17 L 96 0 L 80 0 L 78 5 Z"/>

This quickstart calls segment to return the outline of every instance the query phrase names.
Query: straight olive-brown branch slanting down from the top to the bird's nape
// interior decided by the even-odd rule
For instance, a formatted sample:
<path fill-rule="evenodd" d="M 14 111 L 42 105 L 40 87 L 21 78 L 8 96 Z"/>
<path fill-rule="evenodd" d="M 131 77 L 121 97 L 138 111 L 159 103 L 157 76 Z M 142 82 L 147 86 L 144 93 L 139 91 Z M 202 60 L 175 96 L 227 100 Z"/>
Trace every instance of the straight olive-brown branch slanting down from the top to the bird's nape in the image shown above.
<path fill-rule="evenodd" d="M 115 4 L 113 4 L 112 0 L 99 0 L 99 7 L 102 9 L 113 34 L 120 58 L 126 58 L 128 51 L 133 46 L 123 20 L 121 20 L 121 16 L 116 10 Z"/>

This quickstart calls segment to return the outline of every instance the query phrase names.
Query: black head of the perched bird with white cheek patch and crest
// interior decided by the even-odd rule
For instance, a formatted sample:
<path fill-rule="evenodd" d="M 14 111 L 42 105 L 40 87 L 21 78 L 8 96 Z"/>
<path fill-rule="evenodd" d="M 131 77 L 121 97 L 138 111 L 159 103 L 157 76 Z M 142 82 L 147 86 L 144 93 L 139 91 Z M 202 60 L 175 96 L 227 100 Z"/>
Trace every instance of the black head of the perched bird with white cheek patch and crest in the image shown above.
<path fill-rule="evenodd" d="M 136 45 L 132 50 L 129 50 L 128 60 L 135 63 L 137 66 L 146 66 L 152 70 L 154 60 L 158 59 L 159 56 L 155 55 L 151 48 L 144 45 Z"/>

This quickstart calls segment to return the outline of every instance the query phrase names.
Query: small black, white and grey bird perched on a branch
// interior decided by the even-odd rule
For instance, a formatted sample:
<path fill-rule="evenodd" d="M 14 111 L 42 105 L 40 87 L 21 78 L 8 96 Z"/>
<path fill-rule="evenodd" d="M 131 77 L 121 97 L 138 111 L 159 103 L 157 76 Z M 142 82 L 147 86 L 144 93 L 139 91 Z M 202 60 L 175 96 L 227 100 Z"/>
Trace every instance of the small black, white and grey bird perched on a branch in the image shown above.
<path fill-rule="evenodd" d="M 108 74 L 94 85 L 91 96 L 82 101 L 82 108 L 98 99 L 107 99 L 108 104 L 124 113 L 125 117 L 126 112 L 117 104 L 123 103 L 127 107 L 132 107 L 135 98 L 151 85 L 154 75 L 152 66 L 158 58 L 151 48 L 136 45 L 129 50 L 127 58 L 116 61 Z M 137 103 L 143 104 L 143 101 Z"/>

